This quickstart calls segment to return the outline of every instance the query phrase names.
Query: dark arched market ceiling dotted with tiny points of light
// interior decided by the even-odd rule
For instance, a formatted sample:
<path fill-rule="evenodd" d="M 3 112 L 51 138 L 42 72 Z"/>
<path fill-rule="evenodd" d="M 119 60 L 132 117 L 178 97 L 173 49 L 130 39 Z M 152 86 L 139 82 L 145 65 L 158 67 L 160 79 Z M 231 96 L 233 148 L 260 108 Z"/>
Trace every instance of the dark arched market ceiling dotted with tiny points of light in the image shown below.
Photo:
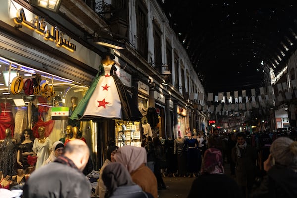
<path fill-rule="evenodd" d="M 277 75 L 297 49 L 297 1 L 163 1 L 206 92 L 262 87 L 261 62 Z"/>

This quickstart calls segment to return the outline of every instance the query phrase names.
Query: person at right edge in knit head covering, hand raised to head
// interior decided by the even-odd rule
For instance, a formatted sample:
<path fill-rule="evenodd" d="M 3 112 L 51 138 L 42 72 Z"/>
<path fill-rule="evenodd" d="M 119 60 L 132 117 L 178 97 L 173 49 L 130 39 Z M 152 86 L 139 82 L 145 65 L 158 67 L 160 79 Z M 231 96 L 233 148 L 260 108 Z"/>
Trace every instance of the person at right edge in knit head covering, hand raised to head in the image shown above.
<path fill-rule="evenodd" d="M 254 186 L 251 198 L 297 198 L 297 141 L 277 138 L 264 162 L 267 174 Z"/>

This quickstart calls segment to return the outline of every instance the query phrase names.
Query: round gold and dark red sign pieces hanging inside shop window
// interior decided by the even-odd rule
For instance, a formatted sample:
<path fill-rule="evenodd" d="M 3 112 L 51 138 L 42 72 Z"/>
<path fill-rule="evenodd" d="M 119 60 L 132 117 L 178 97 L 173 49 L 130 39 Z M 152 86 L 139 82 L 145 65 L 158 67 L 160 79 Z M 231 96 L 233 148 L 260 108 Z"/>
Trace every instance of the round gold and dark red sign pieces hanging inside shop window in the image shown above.
<path fill-rule="evenodd" d="M 38 95 L 48 100 L 55 97 L 53 86 L 49 86 L 47 82 L 41 84 L 41 75 L 35 74 L 33 78 L 23 79 L 21 76 L 13 78 L 10 86 L 12 94 L 19 94 L 24 90 L 25 95 Z"/>

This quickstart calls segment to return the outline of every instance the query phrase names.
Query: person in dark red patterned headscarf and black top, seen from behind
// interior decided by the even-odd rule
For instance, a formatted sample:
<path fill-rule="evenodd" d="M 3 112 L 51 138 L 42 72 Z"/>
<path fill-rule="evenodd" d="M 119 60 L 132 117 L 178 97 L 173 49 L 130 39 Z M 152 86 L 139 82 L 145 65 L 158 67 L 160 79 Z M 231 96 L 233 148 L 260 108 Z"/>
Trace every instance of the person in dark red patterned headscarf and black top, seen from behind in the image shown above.
<path fill-rule="evenodd" d="M 197 189 L 203 189 L 197 191 Z M 192 183 L 187 198 L 241 198 L 242 194 L 235 180 L 224 174 L 222 152 L 208 148 L 199 175 Z"/>

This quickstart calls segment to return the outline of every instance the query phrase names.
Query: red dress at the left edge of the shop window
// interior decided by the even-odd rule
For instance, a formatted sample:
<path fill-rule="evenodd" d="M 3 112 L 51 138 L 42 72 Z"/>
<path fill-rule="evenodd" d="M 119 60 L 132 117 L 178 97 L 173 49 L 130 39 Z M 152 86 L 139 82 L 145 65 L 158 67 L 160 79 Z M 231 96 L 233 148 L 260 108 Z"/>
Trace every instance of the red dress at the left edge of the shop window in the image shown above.
<path fill-rule="evenodd" d="M 14 133 L 14 118 L 12 114 L 12 106 L 9 102 L 0 103 L 1 105 L 1 114 L 0 114 L 0 139 L 4 139 L 5 130 L 7 128 L 11 129 L 11 137 Z"/>

